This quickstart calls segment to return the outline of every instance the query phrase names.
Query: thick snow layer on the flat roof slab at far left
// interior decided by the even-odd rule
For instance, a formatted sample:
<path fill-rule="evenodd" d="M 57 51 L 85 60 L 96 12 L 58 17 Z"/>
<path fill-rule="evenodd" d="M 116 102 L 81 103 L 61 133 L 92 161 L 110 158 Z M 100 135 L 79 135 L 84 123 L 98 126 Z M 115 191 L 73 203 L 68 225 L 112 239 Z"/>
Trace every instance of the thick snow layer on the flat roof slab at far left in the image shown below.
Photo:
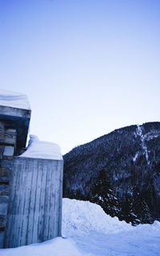
<path fill-rule="evenodd" d="M 0 89 L 0 106 L 11 106 L 18 109 L 30 110 L 26 94 Z"/>

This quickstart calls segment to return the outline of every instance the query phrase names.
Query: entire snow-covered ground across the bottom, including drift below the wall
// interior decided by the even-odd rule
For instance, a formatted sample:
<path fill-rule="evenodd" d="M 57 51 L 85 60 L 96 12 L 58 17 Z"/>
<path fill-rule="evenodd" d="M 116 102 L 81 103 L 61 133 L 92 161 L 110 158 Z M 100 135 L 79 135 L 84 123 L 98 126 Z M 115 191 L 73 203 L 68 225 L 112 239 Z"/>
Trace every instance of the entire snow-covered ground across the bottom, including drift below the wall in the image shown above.
<path fill-rule="evenodd" d="M 160 256 L 160 222 L 131 226 L 90 202 L 63 198 L 63 238 L 0 250 L 1 256 Z"/>

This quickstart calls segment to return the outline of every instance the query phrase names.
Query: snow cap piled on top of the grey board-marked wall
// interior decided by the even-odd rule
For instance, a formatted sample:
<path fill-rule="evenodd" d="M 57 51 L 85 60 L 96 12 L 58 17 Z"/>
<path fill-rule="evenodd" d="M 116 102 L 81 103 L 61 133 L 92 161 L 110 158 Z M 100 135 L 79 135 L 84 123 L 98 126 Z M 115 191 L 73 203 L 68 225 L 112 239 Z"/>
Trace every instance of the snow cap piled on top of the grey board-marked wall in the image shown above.
<path fill-rule="evenodd" d="M 61 149 L 57 144 L 41 142 L 35 135 L 30 135 L 28 148 L 19 157 L 62 160 Z"/>

